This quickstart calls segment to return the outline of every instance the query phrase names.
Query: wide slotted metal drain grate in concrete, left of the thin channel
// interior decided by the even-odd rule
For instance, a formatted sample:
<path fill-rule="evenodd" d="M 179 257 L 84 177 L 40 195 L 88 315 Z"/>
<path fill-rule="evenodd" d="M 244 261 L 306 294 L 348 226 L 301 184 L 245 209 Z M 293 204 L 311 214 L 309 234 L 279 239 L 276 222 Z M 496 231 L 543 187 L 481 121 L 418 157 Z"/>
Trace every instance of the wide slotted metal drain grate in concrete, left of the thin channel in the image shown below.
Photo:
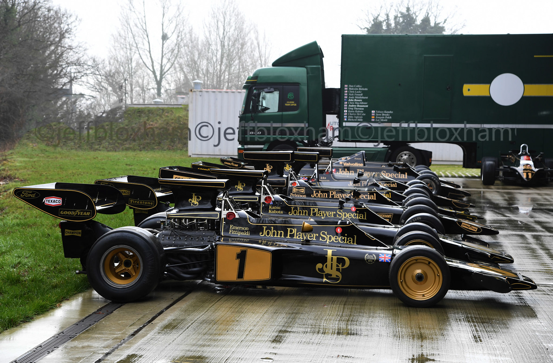
<path fill-rule="evenodd" d="M 38 361 L 122 306 L 123 304 L 119 303 L 108 303 L 102 306 L 100 309 L 88 315 L 84 319 L 79 320 L 79 322 L 71 325 L 69 328 L 62 330 L 59 334 L 56 334 L 40 345 L 35 346 L 35 348 L 29 350 L 18 359 L 13 360 L 11 363 L 34 363 Z"/>

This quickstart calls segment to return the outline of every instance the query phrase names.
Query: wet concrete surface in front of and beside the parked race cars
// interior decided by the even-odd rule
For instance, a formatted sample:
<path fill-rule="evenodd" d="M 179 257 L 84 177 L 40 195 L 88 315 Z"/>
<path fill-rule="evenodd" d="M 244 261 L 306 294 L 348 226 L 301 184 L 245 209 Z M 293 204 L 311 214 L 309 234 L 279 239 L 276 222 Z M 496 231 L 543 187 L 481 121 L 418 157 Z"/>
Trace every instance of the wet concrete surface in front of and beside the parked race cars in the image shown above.
<path fill-rule="evenodd" d="M 164 282 L 145 301 L 117 309 L 40 362 L 553 361 L 553 188 L 450 180 L 472 193 L 471 211 L 499 229 L 483 239 L 513 255 L 513 267 L 538 290 L 450 291 L 437 306 L 418 309 L 385 290 Z M 35 334 L 45 340 L 57 333 L 51 331 Z"/>

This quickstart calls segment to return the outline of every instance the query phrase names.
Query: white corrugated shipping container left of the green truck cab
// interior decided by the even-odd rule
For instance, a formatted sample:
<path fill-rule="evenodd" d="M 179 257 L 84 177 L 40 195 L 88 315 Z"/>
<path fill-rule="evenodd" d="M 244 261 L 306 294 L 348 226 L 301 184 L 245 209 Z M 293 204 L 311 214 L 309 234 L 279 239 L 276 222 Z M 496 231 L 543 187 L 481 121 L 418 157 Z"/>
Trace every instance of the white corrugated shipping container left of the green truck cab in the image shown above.
<path fill-rule="evenodd" d="M 190 90 L 188 154 L 192 157 L 236 156 L 238 116 L 244 90 Z"/>

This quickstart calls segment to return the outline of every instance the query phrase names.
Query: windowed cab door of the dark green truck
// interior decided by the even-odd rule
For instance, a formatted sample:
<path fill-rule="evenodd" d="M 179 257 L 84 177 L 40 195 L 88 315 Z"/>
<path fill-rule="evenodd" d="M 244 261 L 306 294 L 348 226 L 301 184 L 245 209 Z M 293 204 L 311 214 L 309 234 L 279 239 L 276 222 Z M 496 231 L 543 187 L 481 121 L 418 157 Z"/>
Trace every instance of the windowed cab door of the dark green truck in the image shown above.
<path fill-rule="evenodd" d="M 245 141 L 270 140 L 282 127 L 282 86 L 255 85 L 249 88 L 244 105 Z"/>

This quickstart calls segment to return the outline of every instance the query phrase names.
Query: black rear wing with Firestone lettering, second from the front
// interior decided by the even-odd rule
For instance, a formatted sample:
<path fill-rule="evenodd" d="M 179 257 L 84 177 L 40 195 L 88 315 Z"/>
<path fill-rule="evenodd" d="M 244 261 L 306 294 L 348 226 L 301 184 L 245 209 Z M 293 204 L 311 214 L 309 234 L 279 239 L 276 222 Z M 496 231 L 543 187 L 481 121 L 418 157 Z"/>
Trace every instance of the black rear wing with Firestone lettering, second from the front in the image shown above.
<path fill-rule="evenodd" d="M 173 193 L 169 188 L 160 186 L 158 178 L 126 175 L 99 179 L 94 183 L 117 188 L 123 194 L 127 206 L 131 208 L 152 209 L 158 203 L 173 203 Z"/>

